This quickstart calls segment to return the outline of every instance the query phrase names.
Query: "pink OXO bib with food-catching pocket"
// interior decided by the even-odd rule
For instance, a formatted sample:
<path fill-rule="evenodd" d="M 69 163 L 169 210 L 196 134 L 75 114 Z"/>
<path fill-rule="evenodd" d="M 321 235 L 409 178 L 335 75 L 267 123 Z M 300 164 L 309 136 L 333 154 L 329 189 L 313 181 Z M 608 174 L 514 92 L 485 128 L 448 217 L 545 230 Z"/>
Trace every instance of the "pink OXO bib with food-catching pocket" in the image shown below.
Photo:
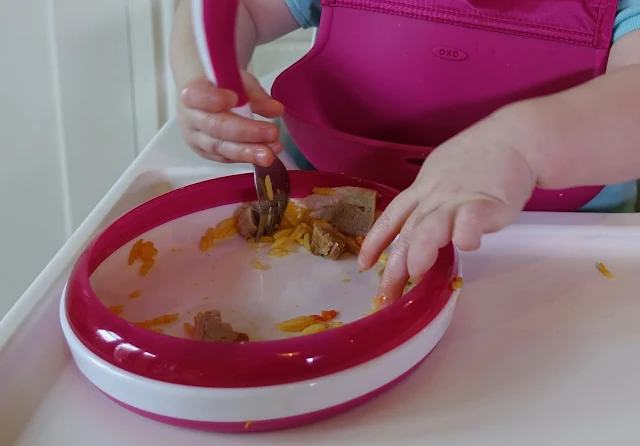
<path fill-rule="evenodd" d="M 324 0 L 314 48 L 273 95 L 317 169 L 404 189 L 433 147 L 497 108 L 604 73 L 616 5 Z M 578 210 L 601 189 L 536 190 L 526 209 Z"/>

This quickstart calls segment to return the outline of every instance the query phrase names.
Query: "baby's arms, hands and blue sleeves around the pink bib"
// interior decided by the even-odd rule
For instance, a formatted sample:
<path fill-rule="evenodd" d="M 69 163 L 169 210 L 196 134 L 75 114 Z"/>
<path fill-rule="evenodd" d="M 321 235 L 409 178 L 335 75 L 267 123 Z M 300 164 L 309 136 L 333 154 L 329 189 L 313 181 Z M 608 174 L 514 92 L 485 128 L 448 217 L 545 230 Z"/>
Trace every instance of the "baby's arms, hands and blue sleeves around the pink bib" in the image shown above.
<path fill-rule="evenodd" d="M 320 12 L 319 0 L 241 0 L 240 62 L 246 67 L 257 45 L 301 26 L 317 26 Z M 483 234 L 513 222 L 536 187 L 612 184 L 585 210 L 633 206 L 632 180 L 640 177 L 640 0 L 619 1 L 613 31 L 605 75 L 502 107 L 429 155 L 415 182 L 389 205 L 362 246 L 360 265 L 371 268 L 399 235 L 381 296 L 400 296 L 409 276 L 422 277 L 439 248 L 451 241 L 462 250 L 477 249 Z M 182 0 L 176 13 L 171 65 L 182 91 L 181 129 L 198 154 L 224 163 L 269 165 L 282 151 L 276 126 L 232 115 L 234 93 L 204 78 L 189 0 Z M 282 104 L 252 75 L 243 76 L 255 113 L 283 114 Z"/>

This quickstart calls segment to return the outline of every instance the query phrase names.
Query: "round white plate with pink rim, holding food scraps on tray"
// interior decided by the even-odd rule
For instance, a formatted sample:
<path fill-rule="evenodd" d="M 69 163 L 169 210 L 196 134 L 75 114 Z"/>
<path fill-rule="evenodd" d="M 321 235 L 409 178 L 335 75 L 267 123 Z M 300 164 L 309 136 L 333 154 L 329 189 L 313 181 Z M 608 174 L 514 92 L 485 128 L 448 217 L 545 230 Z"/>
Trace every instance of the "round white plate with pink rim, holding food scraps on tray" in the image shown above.
<path fill-rule="evenodd" d="M 361 186 L 379 208 L 397 192 L 369 181 L 292 171 L 292 197 L 314 187 Z M 379 277 L 355 257 L 339 261 L 303 249 L 268 255 L 240 236 L 199 250 L 206 229 L 255 199 L 250 174 L 214 179 L 157 197 L 99 234 L 79 257 L 60 319 L 80 371 L 120 405 L 161 422 L 220 432 L 293 427 L 343 412 L 392 387 L 416 368 L 447 329 L 461 275 L 452 245 L 402 299 L 371 310 Z M 139 238 L 158 249 L 146 276 L 128 254 Z M 265 269 L 256 269 L 259 261 Z M 139 297 L 131 298 L 134 291 Z M 108 307 L 124 305 L 117 316 Z M 249 334 L 243 344 L 188 339 L 183 322 L 217 309 Z M 344 326 L 310 336 L 280 333 L 277 322 L 322 310 Z M 179 313 L 164 333 L 130 321 Z"/>

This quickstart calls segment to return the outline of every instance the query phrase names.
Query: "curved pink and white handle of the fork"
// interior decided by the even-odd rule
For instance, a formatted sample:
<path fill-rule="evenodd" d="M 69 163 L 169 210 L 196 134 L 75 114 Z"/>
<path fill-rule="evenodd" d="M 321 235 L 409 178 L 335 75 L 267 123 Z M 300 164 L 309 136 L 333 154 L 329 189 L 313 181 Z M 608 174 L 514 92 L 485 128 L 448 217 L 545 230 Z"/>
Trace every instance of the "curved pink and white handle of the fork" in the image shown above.
<path fill-rule="evenodd" d="M 192 0 L 193 34 L 207 79 L 238 95 L 232 112 L 253 118 L 236 54 L 238 0 Z"/>

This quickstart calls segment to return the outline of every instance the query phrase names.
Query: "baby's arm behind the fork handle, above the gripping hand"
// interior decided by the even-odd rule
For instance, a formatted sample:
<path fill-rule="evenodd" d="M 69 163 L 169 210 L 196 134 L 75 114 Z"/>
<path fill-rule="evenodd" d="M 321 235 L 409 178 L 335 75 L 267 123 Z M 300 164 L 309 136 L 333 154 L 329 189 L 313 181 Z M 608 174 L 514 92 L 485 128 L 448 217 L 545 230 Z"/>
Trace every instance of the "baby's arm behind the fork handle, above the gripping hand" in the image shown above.
<path fill-rule="evenodd" d="M 271 42 L 299 27 L 286 0 L 240 0 L 236 46 L 242 68 L 249 64 L 257 45 Z M 190 0 L 182 0 L 176 10 L 170 53 L 179 91 L 192 79 L 204 74 L 191 28 Z"/>

